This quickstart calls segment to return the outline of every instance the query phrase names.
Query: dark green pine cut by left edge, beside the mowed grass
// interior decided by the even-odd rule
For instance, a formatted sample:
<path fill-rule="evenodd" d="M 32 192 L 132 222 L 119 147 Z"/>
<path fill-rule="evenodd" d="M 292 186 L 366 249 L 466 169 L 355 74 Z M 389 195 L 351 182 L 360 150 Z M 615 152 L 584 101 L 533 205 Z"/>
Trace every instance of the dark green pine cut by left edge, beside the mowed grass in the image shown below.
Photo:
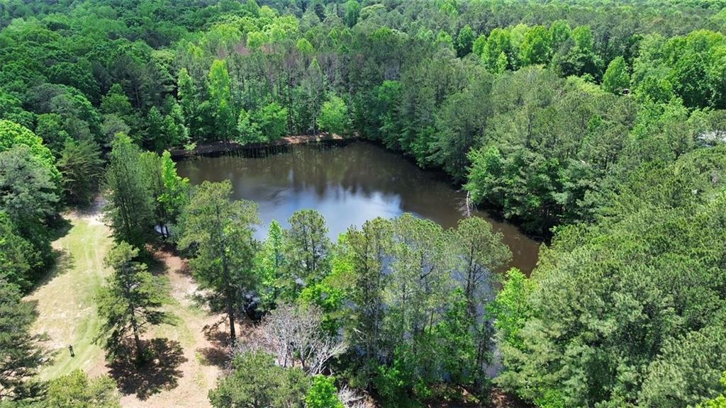
<path fill-rule="evenodd" d="M 0 404 L 38 396 L 40 384 L 33 377 L 45 353 L 30 334 L 35 319 L 33 305 L 23 301 L 18 287 L 0 280 Z"/>

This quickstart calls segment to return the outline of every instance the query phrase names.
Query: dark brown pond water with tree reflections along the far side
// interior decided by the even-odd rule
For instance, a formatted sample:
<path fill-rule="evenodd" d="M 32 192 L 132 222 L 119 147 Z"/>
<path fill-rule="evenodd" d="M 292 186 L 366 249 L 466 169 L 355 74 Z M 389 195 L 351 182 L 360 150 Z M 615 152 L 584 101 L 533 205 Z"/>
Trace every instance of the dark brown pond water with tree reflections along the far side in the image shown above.
<path fill-rule="evenodd" d="M 314 193 L 320 202 L 340 202 L 343 195 L 382 195 L 386 202 L 399 205 L 399 211 L 416 213 L 443 227 L 454 227 L 462 217 L 459 207 L 465 194 L 448 184 L 444 176 L 424 171 L 398 153 L 375 144 L 308 144 L 264 153 L 187 160 L 179 163 L 179 173 L 189 177 L 192 184 L 231 179 L 234 195 L 248 200 L 277 203 L 277 198 L 287 197 L 285 192 L 295 196 Z M 475 214 L 489 219 L 486 213 Z M 537 258 L 537 243 L 510 224 L 489 221 L 504 234 L 515 254 L 514 264 L 531 270 Z"/>

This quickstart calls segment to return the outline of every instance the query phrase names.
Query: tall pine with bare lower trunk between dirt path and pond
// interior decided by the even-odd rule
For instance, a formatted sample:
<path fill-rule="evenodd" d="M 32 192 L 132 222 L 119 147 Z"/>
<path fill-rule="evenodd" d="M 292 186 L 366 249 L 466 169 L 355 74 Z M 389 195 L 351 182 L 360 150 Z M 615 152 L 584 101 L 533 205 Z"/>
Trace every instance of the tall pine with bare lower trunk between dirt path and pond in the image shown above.
<path fill-rule="evenodd" d="M 193 190 L 181 214 L 179 248 L 192 250 L 192 272 L 201 287 L 213 291 L 211 301 L 224 307 L 234 342 L 234 317 L 242 309 L 244 291 L 255 284 L 252 261 L 256 243 L 252 234 L 253 225 L 259 221 L 255 203 L 230 202 L 231 194 L 229 180 L 205 181 Z"/>

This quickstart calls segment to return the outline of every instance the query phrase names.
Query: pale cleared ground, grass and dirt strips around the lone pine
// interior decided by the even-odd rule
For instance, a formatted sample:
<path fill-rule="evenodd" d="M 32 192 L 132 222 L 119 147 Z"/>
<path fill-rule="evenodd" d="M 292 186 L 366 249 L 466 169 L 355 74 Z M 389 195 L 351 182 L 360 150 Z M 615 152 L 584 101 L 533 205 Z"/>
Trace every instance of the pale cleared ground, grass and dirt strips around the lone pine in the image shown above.
<path fill-rule="evenodd" d="M 136 407 L 209 407 L 208 391 L 227 362 L 221 316 L 197 306 L 197 285 L 184 260 L 167 250 L 154 253 L 150 271 L 168 279 L 174 325 L 152 328 L 144 341 L 157 358 L 137 370 L 123 356 L 107 362 L 97 342 L 101 325 L 94 296 L 110 269 L 103 265 L 113 240 L 100 218 L 99 206 L 87 213 L 69 213 L 70 228 L 53 242 L 57 265 L 25 300 L 36 303 L 33 330 L 45 333 L 44 346 L 53 357 L 41 372 L 49 380 L 81 369 L 91 376 L 108 374 L 118 382 L 121 404 Z M 68 346 L 73 346 L 74 357 Z"/>

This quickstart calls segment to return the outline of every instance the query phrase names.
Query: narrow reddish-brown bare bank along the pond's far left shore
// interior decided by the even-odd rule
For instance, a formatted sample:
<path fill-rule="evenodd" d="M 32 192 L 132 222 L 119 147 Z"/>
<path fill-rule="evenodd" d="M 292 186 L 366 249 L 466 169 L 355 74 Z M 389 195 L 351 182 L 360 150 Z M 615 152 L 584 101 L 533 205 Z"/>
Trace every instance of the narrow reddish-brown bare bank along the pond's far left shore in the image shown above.
<path fill-rule="evenodd" d="M 292 146 L 294 144 L 309 144 L 317 142 L 343 142 L 357 139 L 356 136 L 340 136 L 338 134 L 318 135 L 292 135 L 285 136 L 272 142 L 259 142 L 239 144 L 237 142 L 211 142 L 199 144 L 192 150 L 176 148 L 169 150 L 172 158 L 192 158 L 198 155 L 213 155 L 217 153 L 239 152 L 242 150 L 266 149 L 269 147 Z"/>

